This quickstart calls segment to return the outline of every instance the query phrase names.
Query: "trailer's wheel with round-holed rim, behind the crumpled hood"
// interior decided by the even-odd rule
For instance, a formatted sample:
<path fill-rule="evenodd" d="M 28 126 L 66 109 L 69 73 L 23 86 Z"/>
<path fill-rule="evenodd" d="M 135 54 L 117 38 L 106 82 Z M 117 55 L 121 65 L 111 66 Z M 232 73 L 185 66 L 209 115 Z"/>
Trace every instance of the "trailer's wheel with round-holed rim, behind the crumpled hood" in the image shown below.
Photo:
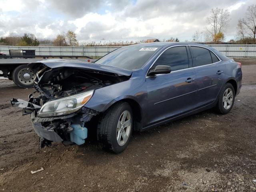
<path fill-rule="evenodd" d="M 12 72 L 12 80 L 21 88 L 30 88 L 34 85 L 36 75 L 28 69 L 26 64 L 16 67 Z"/>

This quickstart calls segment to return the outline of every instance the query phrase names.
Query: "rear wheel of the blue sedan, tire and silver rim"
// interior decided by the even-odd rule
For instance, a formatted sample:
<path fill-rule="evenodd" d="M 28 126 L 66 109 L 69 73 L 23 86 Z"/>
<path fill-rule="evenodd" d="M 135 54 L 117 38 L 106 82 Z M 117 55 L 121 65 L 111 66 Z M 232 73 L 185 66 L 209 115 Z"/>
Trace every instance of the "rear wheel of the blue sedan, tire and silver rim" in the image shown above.
<path fill-rule="evenodd" d="M 230 96 L 228 96 L 228 94 L 230 94 Z M 228 98 L 226 98 L 226 96 L 228 96 Z M 234 101 L 235 101 L 234 87 L 232 86 L 232 84 L 226 83 L 220 90 L 218 103 L 216 105 L 217 112 L 220 114 L 227 114 L 233 108 Z"/>

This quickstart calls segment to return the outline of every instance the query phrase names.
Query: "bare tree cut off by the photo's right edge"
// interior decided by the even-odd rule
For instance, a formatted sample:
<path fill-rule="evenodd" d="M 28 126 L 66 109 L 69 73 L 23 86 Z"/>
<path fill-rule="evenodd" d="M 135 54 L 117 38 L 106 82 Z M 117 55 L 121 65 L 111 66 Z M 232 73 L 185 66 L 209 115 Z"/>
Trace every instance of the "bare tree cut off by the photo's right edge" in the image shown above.
<path fill-rule="evenodd" d="M 238 21 L 239 22 L 239 21 Z M 247 35 L 255 42 L 256 37 L 256 5 L 248 6 L 246 11 L 246 18 L 241 20 L 242 25 L 247 29 Z"/>

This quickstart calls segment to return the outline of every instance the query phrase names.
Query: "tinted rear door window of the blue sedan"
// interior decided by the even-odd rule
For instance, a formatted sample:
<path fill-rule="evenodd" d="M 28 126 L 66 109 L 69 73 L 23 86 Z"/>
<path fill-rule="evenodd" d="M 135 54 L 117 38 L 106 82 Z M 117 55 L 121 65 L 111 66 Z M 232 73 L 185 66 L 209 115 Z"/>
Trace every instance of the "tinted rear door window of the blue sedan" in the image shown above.
<path fill-rule="evenodd" d="M 208 49 L 190 46 L 190 51 L 194 67 L 212 63 L 212 57 Z"/>

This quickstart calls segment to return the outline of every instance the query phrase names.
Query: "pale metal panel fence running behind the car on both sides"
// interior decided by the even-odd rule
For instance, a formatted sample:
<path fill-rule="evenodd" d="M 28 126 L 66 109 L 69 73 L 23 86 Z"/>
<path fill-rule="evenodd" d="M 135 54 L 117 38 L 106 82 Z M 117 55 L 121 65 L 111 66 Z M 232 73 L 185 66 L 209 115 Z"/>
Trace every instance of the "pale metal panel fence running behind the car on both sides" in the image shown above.
<path fill-rule="evenodd" d="M 256 57 L 255 44 L 207 44 L 228 57 Z M 95 47 L 24 47 L 24 46 L 0 46 L 0 52 L 9 54 L 12 50 L 36 50 L 36 57 L 102 57 L 121 46 L 95 46 Z"/>

